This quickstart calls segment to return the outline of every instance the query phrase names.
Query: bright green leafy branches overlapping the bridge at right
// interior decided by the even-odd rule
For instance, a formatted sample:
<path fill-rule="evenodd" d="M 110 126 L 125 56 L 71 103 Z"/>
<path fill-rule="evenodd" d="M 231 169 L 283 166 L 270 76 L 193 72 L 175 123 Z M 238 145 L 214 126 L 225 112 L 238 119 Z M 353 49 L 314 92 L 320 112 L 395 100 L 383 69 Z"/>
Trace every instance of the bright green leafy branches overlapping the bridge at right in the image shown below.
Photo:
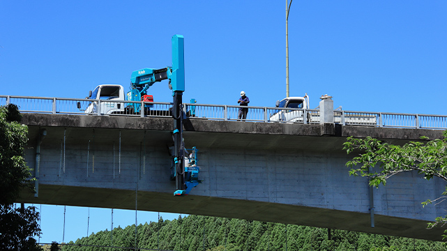
<path fill-rule="evenodd" d="M 376 188 L 380 184 L 386 185 L 386 180 L 395 174 L 411 171 L 418 172 L 426 180 L 438 177 L 447 182 L 447 131 L 443 135 L 444 139 L 427 141 L 427 137 L 421 137 L 424 142 L 409 142 L 403 146 L 383 143 L 372 137 L 348 137 L 343 149 L 348 154 L 360 151 L 359 155 L 346 163 L 351 168 L 349 175 L 368 177 L 370 185 Z M 447 186 L 437 199 L 427 199 L 422 204 L 425 206 L 444 201 L 446 195 Z M 428 227 L 444 226 L 446 223 L 447 215 L 439 216 Z M 443 237 L 447 238 L 447 235 L 444 234 Z"/>

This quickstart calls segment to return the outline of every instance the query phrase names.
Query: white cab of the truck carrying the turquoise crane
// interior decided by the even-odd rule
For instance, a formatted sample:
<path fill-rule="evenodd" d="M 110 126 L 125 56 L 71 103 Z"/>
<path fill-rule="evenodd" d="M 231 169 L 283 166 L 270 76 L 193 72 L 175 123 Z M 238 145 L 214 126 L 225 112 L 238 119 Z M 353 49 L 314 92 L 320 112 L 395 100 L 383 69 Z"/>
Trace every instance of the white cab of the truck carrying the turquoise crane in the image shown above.
<path fill-rule="evenodd" d="M 89 99 L 100 100 L 100 114 L 119 114 L 124 110 L 125 100 L 123 86 L 119 84 L 101 84 L 89 93 Z M 112 101 L 112 102 L 107 102 Z M 93 101 L 85 109 L 85 113 L 97 113 L 98 102 Z"/>

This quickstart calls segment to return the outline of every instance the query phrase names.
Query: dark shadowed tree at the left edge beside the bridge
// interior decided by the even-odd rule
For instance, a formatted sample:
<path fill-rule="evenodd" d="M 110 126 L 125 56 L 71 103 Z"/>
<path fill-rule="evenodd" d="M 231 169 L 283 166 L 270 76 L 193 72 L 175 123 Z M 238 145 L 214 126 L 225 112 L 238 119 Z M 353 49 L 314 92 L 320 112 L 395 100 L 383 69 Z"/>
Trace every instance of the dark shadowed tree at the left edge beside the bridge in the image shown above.
<path fill-rule="evenodd" d="M 40 250 L 39 213 L 34 206 L 13 208 L 20 190 L 33 190 L 24 161 L 28 128 L 16 105 L 0 107 L 0 250 Z"/>

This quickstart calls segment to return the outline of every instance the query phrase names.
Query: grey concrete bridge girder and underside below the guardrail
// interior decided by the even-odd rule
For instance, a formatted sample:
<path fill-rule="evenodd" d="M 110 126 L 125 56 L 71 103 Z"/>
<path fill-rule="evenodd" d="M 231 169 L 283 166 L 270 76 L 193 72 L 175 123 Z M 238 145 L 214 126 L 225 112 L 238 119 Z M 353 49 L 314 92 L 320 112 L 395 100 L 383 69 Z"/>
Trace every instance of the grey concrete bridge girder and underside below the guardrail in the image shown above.
<path fill-rule="evenodd" d="M 399 174 L 373 190 L 371 227 L 368 181 L 348 174 L 352 156 L 346 137 L 378 137 L 394 144 L 439 130 L 320 125 L 185 121 L 187 148 L 199 149 L 203 182 L 190 195 L 174 197 L 169 181 L 172 119 L 24 114 L 29 126 L 26 162 L 36 166 L 40 130 L 38 197 L 18 202 L 138 209 L 282 222 L 441 241 L 444 229 L 427 221 L 444 215 L 444 204 L 421 202 L 444 191 L 439 179 Z M 65 135 L 65 140 L 64 140 Z M 121 135 L 121 137 L 120 137 Z"/>

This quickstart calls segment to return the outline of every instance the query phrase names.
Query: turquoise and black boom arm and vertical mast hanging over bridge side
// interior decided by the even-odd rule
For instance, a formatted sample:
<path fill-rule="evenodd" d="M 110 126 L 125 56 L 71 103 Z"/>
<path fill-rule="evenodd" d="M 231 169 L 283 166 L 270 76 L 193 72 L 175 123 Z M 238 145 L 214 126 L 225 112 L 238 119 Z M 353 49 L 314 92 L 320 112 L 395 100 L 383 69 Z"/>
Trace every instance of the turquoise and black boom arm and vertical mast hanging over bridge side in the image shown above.
<path fill-rule="evenodd" d="M 185 183 L 185 156 L 183 146 L 183 109 L 182 96 L 185 91 L 185 55 L 183 36 L 172 36 L 172 67 L 162 69 L 144 68 L 135 70 L 131 77 L 131 90 L 128 92 L 128 100 L 141 101 L 142 95 L 146 95 L 147 89 L 156 82 L 169 79 L 169 89 L 172 89 L 173 105 L 172 117 L 174 118 L 174 165 L 176 177 L 176 191 L 174 195 L 187 195 L 198 181 Z M 139 112 L 140 104 L 132 103 L 135 112 Z M 197 178 L 197 169 L 195 177 Z M 190 174 L 188 174 L 188 177 Z"/>

